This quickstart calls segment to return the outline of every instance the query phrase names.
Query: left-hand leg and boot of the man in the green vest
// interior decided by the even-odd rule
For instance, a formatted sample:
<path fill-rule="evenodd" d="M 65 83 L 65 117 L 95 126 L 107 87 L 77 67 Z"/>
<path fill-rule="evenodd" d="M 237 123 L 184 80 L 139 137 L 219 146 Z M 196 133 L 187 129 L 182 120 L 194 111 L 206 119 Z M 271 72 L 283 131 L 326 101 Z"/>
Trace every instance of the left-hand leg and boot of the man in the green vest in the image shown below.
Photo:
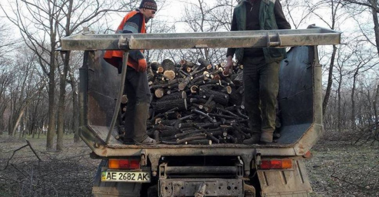
<path fill-rule="evenodd" d="M 257 143 L 261 133 L 261 109 L 259 107 L 259 70 L 252 61 L 244 61 L 244 99 L 246 111 L 249 115 L 251 138 L 244 140 L 245 144 Z"/>

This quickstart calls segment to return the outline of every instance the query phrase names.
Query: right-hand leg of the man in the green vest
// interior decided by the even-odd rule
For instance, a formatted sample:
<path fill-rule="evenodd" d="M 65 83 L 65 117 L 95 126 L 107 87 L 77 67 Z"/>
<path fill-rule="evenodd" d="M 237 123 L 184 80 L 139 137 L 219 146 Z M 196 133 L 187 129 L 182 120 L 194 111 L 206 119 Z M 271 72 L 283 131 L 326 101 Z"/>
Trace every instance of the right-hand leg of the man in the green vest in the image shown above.
<path fill-rule="evenodd" d="M 272 142 L 276 119 L 276 96 L 279 90 L 279 62 L 262 67 L 260 75 L 260 97 L 262 108 L 262 142 Z"/>

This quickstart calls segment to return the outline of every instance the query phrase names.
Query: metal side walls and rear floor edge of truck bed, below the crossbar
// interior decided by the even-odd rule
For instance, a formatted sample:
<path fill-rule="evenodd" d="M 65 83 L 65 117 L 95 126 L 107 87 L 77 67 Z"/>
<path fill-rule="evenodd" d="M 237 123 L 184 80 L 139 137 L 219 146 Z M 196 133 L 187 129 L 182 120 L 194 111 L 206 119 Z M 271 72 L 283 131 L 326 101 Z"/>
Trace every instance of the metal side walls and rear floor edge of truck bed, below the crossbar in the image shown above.
<path fill-rule="evenodd" d="M 281 137 L 275 145 L 123 145 L 105 139 L 112 121 L 119 87 L 117 69 L 103 60 L 103 51 L 85 51 L 80 69 L 79 134 L 94 153 L 101 157 L 147 155 L 241 155 L 301 156 L 322 132 L 321 67 L 316 46 L 293 47 L 281 62 L 279 106 Z M 113 136 L 117 134 L 114 129 Z"/>

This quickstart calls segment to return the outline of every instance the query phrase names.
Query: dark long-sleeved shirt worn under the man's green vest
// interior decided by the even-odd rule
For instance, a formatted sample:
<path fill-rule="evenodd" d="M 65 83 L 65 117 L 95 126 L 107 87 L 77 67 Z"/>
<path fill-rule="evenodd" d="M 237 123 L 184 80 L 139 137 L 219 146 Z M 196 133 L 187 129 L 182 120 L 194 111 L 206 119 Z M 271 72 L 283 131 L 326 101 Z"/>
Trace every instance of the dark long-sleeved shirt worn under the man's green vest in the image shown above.
<path fill-rule="evenodd" d="M 254 3 L 246 4 L 246 30 L 260 30 L 259 25 L 259 8 L 261 5 L 261 0 L 255 0 Z M 281 4 L 279 0 L 275 1 L 274 5 L 274 14 L 276 19 L 276 24 L 278 29 L 291 29 L 290 23 L 286 20 L 286 17 L 283 13 Z M 231 21 L 231 31 L 238 31 L 237 29 L 237 19 L 235 13 L 233 13 L 233 18 Z M 234 56 L 235 48 L 228 48 L 226 52 L 227 56 Z M 244 48 L 244 57 L 263 57 L 262 48 L 252 47 Z"/>

